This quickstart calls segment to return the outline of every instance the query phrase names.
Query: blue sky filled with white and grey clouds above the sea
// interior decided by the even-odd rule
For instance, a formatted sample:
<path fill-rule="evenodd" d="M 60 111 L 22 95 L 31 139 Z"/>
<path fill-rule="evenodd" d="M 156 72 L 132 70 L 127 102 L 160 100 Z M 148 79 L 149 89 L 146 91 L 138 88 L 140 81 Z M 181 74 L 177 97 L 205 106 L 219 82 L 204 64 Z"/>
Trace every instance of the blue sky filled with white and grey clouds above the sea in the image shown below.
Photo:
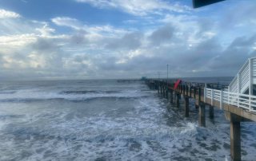
<path fill-rule="evenodd" d="M 0 80 L 233 77 L 255 26 L 251 0 L 0 0 Z"/>

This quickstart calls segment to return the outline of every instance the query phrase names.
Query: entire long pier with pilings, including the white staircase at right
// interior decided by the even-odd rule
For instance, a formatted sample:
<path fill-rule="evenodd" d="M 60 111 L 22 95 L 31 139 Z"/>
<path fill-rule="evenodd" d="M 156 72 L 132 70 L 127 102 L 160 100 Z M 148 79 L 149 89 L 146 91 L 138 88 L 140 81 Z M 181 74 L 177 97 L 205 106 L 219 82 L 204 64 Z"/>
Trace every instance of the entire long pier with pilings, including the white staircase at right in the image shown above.
<path fill-rule="evenodd" d="M 241 160 L 241 129 L 243 121 L 256 122 L 256 57 L 246 61 L 230 84 L 203 84 L 146 79 L 150 89 L 170 99 L 171 104 L 180 108 L 179 100 L 185 100 L 184 116 L 189 117 L 189 99 L 195 99 L 199 108 L 198 124 L 206 127 L 206 107 L 214 118 L 214 108 L 224 110 L 226 120 L 230 121 L 230 156 Z M 175 101 L 174 101 L 175 100 Z"/>

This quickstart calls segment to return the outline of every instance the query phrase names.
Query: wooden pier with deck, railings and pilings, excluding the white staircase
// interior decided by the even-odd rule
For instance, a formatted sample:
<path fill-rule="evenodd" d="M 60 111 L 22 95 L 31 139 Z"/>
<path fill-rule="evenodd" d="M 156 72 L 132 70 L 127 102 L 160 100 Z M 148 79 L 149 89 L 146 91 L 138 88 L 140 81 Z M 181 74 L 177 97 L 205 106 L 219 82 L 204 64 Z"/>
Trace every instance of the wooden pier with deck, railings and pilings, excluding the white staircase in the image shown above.
<path fill-rule="evenodd" d="M 206 107 L 210 108 L 210 117 L 214 117 L 214 108 L 225 111 L 226 120 L 230 121 L 230 156 L 232 160 L 241 160 L 242 121 L 256 121 L 256 96 L 228 92 L 227 86 L 217 84 L 196 84 L 182 82 L 174 89 L 174 81 L 148 79 L 145 81 L 150 89 L 170 98 L 180 108 L 181 96 L 185 99 L 184 116 L 189 117 L 189 99 L 195 99 L 195 107 L 199 108 L 198 124 L 206 127 Z"/>

